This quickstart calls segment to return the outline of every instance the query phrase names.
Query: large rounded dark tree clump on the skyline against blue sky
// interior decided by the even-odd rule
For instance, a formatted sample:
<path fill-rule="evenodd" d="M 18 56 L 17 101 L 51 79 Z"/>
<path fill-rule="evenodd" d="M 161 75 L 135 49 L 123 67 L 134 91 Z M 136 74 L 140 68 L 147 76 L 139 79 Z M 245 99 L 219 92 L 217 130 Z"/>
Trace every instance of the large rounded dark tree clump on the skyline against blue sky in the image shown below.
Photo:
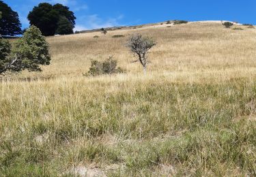
<path fill-rule="evenodd" d="M 38 27 L 42 31 L 42 34 L 46 36 L 55 35 L 59 31 L 65 31 L 62 34 L 73 33 L 70 28 L 74 28 L 76 20 L 74 13 L 69 10 L 69 7 L 59 3 L 55 5 L 40 3 L 38 6 L 33 7 L 27 18 L 30 21 L 30 25 Z M 65 30 L 61 30 L 60 28 L 64 28 Z"/>

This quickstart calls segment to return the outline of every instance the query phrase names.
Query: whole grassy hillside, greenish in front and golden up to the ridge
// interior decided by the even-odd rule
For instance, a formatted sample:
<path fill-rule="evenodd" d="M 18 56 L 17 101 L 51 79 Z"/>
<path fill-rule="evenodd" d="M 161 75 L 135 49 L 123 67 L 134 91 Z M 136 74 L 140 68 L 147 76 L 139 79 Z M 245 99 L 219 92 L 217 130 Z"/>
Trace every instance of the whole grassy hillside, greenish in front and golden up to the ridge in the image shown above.
<path fill-rule="evenodd" d="M 0 84 L 0 176 L 253 176 L 256 30 L 166 26 L 49 37 L 50 66 Z M 147 76 L 138 32 L 158 42 Z M 83 76 L 110 55 L 127 74 Z"/>

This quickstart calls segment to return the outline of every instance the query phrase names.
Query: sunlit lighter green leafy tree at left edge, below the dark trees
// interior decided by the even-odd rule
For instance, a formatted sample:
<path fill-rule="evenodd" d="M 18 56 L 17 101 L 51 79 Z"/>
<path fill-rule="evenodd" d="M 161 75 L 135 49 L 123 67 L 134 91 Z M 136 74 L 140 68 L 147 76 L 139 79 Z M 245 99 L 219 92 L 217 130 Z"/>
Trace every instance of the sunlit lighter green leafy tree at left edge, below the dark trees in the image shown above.
<path fill-rule="evenodd" d="M 42 71 L 40 65 L 49 65 L 50 61 L 49 45 L 35 26 L 29 27 L 12 48 L 8 40 L 0 39 L 0 74 L 24 69 Z"/>

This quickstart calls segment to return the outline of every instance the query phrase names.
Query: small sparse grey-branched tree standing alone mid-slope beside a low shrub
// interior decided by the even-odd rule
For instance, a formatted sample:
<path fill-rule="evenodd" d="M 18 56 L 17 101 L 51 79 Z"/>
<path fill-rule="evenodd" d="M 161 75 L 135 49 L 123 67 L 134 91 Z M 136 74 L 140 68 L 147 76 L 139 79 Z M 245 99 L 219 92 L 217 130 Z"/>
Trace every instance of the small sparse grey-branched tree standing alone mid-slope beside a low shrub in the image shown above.
<path fill-rule="evenodd" d="M 139 59 L 133 61 L 133 63 L 140 62 L 143 66 L 144 74 L 146 74 L 147 64 L 150 63 L 150 61 L 147 59 L 147 53 L 152 47 L 156 46 L 156 42 L 154 42 L 154 40 L 150 37 L 143 37 L 141 34 L 137 34 L 132 35 L 132 37 L 128 39 L 127 46 L 134 53 L 134 55 L 137 54 L 139 57 Z"/>

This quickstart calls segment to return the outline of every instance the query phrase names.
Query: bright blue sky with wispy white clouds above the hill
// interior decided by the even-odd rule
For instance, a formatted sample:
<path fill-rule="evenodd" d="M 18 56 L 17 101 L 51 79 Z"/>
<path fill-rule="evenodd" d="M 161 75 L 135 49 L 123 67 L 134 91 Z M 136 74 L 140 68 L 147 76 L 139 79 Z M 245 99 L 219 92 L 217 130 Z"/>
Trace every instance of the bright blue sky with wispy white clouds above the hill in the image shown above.
<path fill-rule="evenodd" d="M 18 12 L 23 28 L 38 3 L 62 3 L 76 16 L 75 30 L 141 25 L 165 20 L 231 20 L 256 25 L 255 0 L 3 0 Z"/>

